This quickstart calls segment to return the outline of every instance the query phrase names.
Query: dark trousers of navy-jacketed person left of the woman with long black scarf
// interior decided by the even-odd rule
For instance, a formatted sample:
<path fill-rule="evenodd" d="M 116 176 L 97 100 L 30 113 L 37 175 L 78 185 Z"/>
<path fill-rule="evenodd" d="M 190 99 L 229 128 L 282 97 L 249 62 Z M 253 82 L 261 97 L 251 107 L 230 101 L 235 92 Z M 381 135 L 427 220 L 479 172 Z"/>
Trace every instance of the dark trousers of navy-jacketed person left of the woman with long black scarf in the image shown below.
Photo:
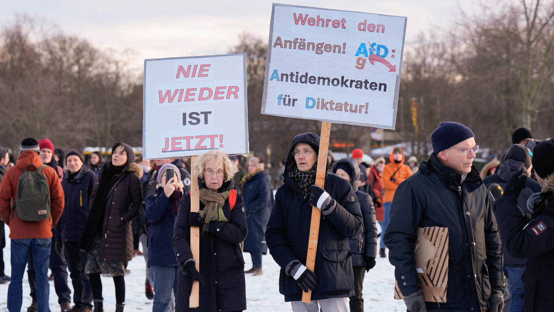
<path fill-rule="evenodd" d="M 77 242 L 64 243 L 65 260 L 68 263 L 69 277 L 73 284 L 73 302 L 77 308 L 93 308 L 93 291 L 89 277 L 85 274 L 86 253 L 77 248 Z"/>

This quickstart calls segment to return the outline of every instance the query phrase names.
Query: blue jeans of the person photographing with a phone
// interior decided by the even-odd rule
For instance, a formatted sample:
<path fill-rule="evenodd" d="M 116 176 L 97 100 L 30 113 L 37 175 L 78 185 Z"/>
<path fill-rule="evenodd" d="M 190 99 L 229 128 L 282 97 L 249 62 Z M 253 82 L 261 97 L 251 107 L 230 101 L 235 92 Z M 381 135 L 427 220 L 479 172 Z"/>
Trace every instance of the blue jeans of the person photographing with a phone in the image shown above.
<path fill-rule="evenodd" d="M 154 288 L 152 312 L 165 312 L 171 301 L 171 290 L 177 298 L 177 265 L 151 265 Z"/>

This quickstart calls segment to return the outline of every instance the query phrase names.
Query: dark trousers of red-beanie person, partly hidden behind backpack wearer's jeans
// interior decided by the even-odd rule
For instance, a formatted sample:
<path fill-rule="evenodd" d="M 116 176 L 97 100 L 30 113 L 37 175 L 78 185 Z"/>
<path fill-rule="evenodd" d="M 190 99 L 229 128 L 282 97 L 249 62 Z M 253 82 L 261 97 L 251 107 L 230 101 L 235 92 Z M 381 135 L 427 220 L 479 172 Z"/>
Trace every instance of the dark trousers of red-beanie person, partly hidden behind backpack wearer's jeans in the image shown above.
<path fill-rule="evenodd" d="M 29 256 L 27 277 L 31 289 L 30 296 L 37 301 L 37 275 L 35 274 L 33 258 Z M 68 266 L 65 259 L 56 253 L 54 241 L 50 244 L 50 270 L 54 275 L 54 289 L 58 295 L 58 303 L 71 302 L 71 289 L 68 285 Z"/>

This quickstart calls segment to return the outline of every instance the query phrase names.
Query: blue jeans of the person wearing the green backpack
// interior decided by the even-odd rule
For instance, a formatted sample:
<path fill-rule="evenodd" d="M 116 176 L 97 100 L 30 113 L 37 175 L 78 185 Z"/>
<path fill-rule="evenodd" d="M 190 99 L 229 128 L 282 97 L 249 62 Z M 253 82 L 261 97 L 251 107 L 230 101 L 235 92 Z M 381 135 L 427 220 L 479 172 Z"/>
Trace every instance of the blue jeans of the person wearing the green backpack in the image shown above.
<path fill-rule="evenodd" d="M 50 264 L 50 238 L 12 239 L 11 264 L 12 281 L 8 287 L 8 311 L 20 312 L 23 304 L 23 274 L 29 259 L 29 254 L 35 263 L 37 274 L 37 305 L 38 312 L 50 312 L 48 297 L 48 267 Z"/>

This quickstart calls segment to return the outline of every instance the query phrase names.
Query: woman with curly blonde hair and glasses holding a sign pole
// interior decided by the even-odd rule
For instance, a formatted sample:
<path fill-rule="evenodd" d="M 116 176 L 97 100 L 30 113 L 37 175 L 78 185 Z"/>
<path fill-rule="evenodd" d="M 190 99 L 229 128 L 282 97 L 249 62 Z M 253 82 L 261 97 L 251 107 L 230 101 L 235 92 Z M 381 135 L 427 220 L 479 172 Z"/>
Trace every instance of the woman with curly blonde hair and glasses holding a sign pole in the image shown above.
<path fill-rule="evenodd" d="M 192 172 L 198 177 L 199 211 L 191 212 L 191 196 L 179 203 L 173 228 L 173 250 L 179 264 L 176 311 L 242 311 L 246 309 L 244 259 L 240 243 L 247 234 L 243 198 L 235 190 L 237 166 L 227 155 L 209 151 L 198 156 Z M 200 228 L 199 272 L 190 247 L 191 226 Z M 200 283 L 199 306 L 189 308 L 194 280 Z"/>

